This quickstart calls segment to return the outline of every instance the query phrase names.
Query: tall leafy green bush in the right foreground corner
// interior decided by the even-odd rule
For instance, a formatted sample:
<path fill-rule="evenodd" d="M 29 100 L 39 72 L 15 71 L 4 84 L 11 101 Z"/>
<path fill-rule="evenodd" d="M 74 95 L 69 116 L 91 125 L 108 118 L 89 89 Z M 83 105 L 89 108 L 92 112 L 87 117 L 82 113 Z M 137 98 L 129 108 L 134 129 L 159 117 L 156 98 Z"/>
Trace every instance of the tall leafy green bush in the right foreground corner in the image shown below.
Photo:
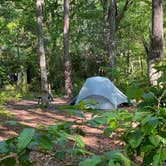
<path fill-rule="evenodd" d="M 144 165 L 162 165 L 166 159 L 163 152 L 166 146 L 165 111 L 161 100 L 165 91 L 147 92 L 142 96 L 142 103 L 134 113 L 130 127 L 125 131 L 123 140 L 129 156 L 143 157 Z M 161 96 L 156 96 L 160 94 Z M 162 157 L 161 157 L 162 156 Z"/>

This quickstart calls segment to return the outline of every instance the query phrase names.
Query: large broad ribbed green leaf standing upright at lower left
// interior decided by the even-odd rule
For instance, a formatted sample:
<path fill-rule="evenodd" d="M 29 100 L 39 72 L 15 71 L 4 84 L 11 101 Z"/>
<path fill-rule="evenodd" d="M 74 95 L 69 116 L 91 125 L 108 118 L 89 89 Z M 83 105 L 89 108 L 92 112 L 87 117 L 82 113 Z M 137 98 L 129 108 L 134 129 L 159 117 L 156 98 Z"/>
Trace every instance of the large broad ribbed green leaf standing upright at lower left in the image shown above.
<path fill-rule="evenodd" d="M 17 147 L 19 150 L 23 150 L 26 146 L 31 142 L 33 136 L 35 134 L 35 129 L 26 128 L 24 129 L 20 136 L 18 137 Z"/>

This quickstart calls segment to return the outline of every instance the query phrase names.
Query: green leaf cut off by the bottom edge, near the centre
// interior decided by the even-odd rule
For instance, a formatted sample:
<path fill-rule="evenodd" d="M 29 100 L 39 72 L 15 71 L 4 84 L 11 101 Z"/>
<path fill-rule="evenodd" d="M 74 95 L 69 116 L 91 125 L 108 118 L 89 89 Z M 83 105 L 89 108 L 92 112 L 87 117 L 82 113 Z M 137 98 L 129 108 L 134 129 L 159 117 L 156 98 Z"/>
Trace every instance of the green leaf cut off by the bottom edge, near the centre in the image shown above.
<path fill-rule="evenodd" d="M 79 166 L 96 166 L 101 162 L 101 158 L 99 156 L 93 156 L 92 158 L 85 159 L 79 163 Z"/>

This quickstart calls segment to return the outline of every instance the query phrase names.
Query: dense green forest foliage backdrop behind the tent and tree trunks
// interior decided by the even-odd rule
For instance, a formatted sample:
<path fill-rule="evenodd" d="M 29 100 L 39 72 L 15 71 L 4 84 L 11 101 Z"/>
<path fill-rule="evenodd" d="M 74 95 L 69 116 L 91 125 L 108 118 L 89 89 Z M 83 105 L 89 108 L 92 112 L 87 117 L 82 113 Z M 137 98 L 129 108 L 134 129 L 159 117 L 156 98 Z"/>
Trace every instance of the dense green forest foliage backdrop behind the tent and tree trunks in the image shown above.
<path fill-rule="evenodd" d="M 163 1 L 163 8 L 165 6 Z M 146 85 L 151 8 L 150 0 L 122 0 L 116 3 L 115 66 L 111 68 L 109 1 L 70 1 L 69 55 L 73 95 L 78 92 L 82 81 L 98 75 L 99 70 L 103 70 L 106 77 L 112 76 L 123 91 L 133 81 Z M 45 0 L 42 15 L 48 83 L 53 91 L 63 94 L 63 1 Z M 164 34 L 165 24 L 164 17 Z M 40 67 L 35 1 L 1 1 L 0 30 L 1 81 L 5 84 L 10 74 L 27 72 L 28 89 L 36 89 L 40 84 Z"/>

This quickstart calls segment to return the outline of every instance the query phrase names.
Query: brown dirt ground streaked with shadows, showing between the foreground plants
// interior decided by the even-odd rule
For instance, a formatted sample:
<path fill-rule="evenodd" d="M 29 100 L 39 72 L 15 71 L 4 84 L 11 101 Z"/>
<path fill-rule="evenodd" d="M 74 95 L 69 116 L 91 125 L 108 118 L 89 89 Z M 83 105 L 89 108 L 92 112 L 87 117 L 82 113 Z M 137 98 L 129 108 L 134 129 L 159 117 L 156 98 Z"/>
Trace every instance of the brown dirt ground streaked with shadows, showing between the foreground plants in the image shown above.
<path fill-rule="evenodd" d="M 103 126 L 92 127 L 86 124 L 82 125 L 83 118 L 80 117 L 81 115 L 74 115 L 71 110 L 68 111 L 64 108 L 57 109 L 60 105 L 65 104 L 66 101 L 57 98 L 54 99 L 48 110 L 43 111 L 37 107 L 37 101 L 20 100 L 18 102 L 8 102 L 4 106 L 4 110 L 7 110 L 6 115 L 4 116 L 3 113 L 0 116 L 0 140 L 17 136 L 25 127 L 41 129 L 43 126 L 55 125 L 61 122 L 76 122 L 81 125 L 73 125 L 73 127 L 80 134 L 80 138 L 83 140 L 87 151 L 100 155 L 106 151 L 122 149 L 124 143 L 118 138 L 118 135 L 114 135 L 110 139 L 108 135 L 103 135 Z M 84 113 L 84 115 L 86 119 L 90 120 L 92 113 Z M 73 148 L 74 142 L 72 139 L 67 146 Z M 74 157 L 74 155 L 68 155 L 65 160 L 61 161 L 61 155 L 62 153 L 59 153 L 60 160 L 57 160 L 50 153 L 47 154 L 42 151 L 33 150 L 31 152 L 31 159 L 37 161 L 36 165 L 70 165 L 79 158 Z M 84 157 L 86 157 L 86 154 L 84 154 Z"/>

